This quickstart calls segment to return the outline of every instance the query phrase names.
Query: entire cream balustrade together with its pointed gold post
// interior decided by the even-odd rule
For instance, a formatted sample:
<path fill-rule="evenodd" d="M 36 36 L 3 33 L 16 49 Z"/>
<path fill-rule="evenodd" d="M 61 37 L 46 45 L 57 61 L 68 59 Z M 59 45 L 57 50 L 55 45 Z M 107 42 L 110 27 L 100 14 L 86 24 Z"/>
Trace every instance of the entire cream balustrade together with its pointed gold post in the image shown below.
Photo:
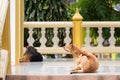
<path fill-rule="evenodd" d="M 70 43 L 77 44 L 78 47 L 83 48 L 92 53 L 97 53 L 98 58 L 101 58 L 101 53 L 107 54 L 107 58 L 115 58 L 115 54 L 120 52 L 120 47 L 116 46 L 116 38 L 114 37 L 115 28 L 120 27 L 120 22 L 114 21 L 82 21 L 82 16 L 79 14 L 78 10 L 76 10 L 75 15 L 73 16 L 73 22 L 24 22 L 24 28 L 28 29 L 28 37 L 27 43 L 31 46 L 34 46 L 34 42 L 36 41 L 34 36 L 39 36 L 37 42 L 39 46 L 35 46 L 39 52 L 42 54 L 69 54 L 63 49 L 64 45 L 68 45 Z M 38 28 L 38 31 L 34 31 L 34 28 Z M 52 28 L 53 30 L 47 32 L 46 28 Z M 59 29 L 64 28 L 64 32 L 59 33 Z M 82 39 L 82 28 L 85 28 L 86 36 L 84 40 Z M 90 37 L 90 28 L 97 28 L 97 45 L 91 45 L 92 38 Z M 107 39 L 107 46 L 103 45 L 105 39 L 103 38 L 103 28 L 109 28 L 110 37 Z M 36 33 L 36 35 L 34 35 Z M 38 34 L 39 33 L 39 34 Z M 49 36 L 46 36 L 46 34 Z M 64 37 L 60 37 L 62 34 Z M 60 41 L 62 41 L 62 46 L 59 45 Z M 84 44 L 82 42 L 84 41 Z M 25 42 L 25 41 L 24 41 Z M 52 45 L 46 45 L 47 42 L 51 42 Z M 24 48 L 25 49 L 25 48 Z M 23 50 L 25 51 L 25 50 Z M 100 55 L 99 55 L 100 53 Z M 108 54 L 110 53 L 110 54 Z M 104 54 L 104 55 L 105 55 Z M 102 58 L 104 57 L 102 55 Z M 108 57 L 109 56 L 109 57 Z M 105 55 L 106 57 L 106 55 Z"/>

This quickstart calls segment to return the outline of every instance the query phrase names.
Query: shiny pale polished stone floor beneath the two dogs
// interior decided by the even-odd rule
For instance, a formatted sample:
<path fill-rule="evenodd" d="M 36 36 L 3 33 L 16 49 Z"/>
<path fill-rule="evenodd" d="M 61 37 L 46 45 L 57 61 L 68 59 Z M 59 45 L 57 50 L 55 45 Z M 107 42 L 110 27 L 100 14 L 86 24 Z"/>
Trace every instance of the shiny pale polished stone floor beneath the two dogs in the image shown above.
<path fill-rule="evenodd" d="M 68 59 L 25 62 L 18 66 L 12 66 L 12 75 L 68 75 L 75 65 L 76 63 L 73 60 Z M 96 73 L 86 74 L 120 75 L 120 61 L 100 61 L 100 67 Z"/>

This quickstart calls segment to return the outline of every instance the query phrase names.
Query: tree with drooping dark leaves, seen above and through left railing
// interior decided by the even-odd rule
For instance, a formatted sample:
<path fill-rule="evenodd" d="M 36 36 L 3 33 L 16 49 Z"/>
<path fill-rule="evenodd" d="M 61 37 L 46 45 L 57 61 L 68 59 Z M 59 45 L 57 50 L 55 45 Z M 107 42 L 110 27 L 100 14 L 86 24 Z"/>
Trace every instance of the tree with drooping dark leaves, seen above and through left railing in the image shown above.
<path fill-rule="evenodd" d="M 24 0 L 24 20 L 25 21 L 68 21 L 71 20 L 69 13 L 68 0 Z M 54 37 L 53 28 L 46 28 L 45 37 L 47 39 L 46 46 L 53 46 L 52 38 Z M 33 29 L 33 45 L 39 47 L 41 45 L 41 29 Z M 58 29 L 59 46 L 64 46 L 65 28 Z M 24 29 L 24 46 L 26 46 L 28 32 Z"/>

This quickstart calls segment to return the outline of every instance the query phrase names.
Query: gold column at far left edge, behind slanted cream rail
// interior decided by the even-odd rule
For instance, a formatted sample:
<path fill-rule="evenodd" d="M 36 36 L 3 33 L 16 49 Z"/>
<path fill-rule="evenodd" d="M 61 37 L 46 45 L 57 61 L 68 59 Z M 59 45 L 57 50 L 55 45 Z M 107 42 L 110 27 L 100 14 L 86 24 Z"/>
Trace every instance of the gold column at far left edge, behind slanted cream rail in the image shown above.
<path fill-rule="evenodd" d="M 7 68 L 7 74 L 11 73 L 11 49 L 10 49 L 10 0 L 8 4 L 7 9 L 7 15 L 5 19 L 3 34 L 2 34 L 2 49 L 5 49 L 8 51 L 8 68 Z"/>

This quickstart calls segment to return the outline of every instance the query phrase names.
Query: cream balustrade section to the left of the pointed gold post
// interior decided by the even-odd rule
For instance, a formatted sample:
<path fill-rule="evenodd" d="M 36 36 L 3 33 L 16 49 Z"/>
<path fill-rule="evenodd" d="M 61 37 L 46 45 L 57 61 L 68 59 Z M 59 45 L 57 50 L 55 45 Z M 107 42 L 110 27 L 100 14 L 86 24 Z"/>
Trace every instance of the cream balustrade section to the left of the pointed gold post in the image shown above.
<path fill-rule="evenodd" d="M 62 47 L 71 43 L 70 31 L 72 27 L 72 22 L 37 22 L 37 24 L 35 25 L 34 22 L 31 22 L 30 24 L 32 24 L 33 28 L 28 23 L 30 22 L 24 23 L 25 28 L 28 28 L 29 30 L 28 32 L 26 32 L 28 33 L 27 35 L 29 35 L 29 37 L 26 39 L 27 41 L 24 42 L 27 42 L 31 46 L 35 46 L 42 54 L 68 54 L 68 52 L 64 51 Z M 39 31 L 41 37 L 37 31 L 33 31 L 34 27 L 36 29 L 41 29 Z M 51 28 L 52 30 L 49 31 L 47 30 L 48 28 Z M 33 38 L 33 34 L 35 33 L 37 33 L 36 39 L 39 39 L 38 41 L 41 44 L 39 46 L 34 45 L 36 39 Z"/>

